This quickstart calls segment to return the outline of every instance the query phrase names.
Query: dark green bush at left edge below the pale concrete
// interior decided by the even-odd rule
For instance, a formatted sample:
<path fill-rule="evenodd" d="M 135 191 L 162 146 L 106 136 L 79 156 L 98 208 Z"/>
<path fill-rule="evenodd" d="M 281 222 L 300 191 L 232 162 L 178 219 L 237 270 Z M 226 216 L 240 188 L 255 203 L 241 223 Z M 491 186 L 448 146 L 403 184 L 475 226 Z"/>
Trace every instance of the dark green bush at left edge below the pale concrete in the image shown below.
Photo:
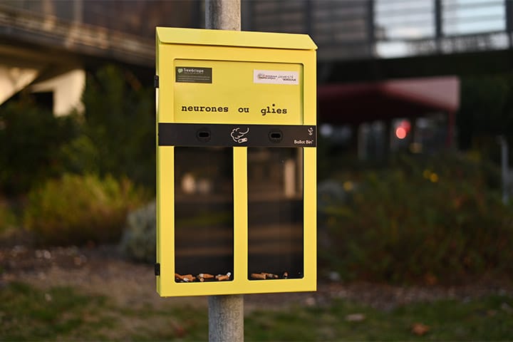
<path fill-rule="evenodd" d="M 0 191 L 28 192 L 33 185 L 61 174 L 56 150 L 76 134 L 75 117 L 56 118 L 29 96 L 0 107 Z"/>

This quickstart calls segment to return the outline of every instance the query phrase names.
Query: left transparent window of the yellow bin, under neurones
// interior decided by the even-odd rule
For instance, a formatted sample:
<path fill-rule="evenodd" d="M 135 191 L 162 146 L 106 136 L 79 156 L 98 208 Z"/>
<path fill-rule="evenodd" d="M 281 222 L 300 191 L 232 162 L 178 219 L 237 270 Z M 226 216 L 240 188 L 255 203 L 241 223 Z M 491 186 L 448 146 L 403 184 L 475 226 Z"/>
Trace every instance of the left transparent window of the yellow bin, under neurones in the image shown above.
<path fill-rule="evenodd" d="M 233 217 L 232 147 L 175 147 L 176 281 L 233 279 Z"/>

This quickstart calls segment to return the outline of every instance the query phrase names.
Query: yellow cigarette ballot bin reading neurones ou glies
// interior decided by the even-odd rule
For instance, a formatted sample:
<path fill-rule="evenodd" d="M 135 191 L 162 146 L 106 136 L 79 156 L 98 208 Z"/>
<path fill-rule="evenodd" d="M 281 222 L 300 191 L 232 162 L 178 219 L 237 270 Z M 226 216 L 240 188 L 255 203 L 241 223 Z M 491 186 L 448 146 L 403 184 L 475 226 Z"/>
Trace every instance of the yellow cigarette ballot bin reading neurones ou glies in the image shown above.
<path fill-rule="evenodd" d="M 157 28 L 160 296 L 316 289 L 316 45 Z"/>

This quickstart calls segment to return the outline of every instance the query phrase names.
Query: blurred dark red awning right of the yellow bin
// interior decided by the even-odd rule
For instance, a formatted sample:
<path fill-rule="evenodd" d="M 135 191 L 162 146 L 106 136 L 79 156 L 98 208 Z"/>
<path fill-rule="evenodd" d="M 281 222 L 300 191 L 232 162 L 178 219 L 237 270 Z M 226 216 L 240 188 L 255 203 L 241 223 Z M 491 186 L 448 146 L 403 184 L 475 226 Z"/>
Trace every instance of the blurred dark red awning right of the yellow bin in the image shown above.
<path fill-rule="evenodd" d="M 454 113 L 460 106 L 455 76 L 318 86 L 318 122 L 357 124 L 429 113 Z"/>

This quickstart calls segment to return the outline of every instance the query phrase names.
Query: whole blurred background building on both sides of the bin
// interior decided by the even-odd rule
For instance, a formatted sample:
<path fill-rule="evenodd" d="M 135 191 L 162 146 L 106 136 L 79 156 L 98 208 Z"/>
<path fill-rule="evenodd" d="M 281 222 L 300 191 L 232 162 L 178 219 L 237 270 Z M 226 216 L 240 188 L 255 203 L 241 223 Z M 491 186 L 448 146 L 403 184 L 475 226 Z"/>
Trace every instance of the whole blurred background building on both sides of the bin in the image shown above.
<path fill-rule="evenodd" d="M 157 25 L 204 27 L 204 1 L 3 0 L 0 103 L 26 87 L 52 91 L 59 115 L 77 107 L 84 69 L 115 61 L 151 75 Z M 407 141 L 395 135 L 403 120 L 413 143 L 417 123 L 439 122 L 450 143 L 455 75 L 512 67 L 509 0 L 242 0 L 242 28 L 309 33 L 319 122 L 347 125 L 353 140 L 384 130 L 390 148 Z"/>

